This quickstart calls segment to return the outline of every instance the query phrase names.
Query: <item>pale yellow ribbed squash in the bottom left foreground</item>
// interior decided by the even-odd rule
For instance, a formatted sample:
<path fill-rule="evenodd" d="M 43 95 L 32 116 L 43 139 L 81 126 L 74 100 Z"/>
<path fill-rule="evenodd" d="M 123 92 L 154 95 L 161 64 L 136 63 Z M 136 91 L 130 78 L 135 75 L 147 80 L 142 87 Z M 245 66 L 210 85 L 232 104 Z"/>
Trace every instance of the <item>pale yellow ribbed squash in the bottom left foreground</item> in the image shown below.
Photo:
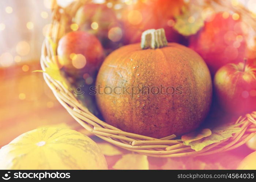
<path fill-rule="evenodd" d="M 89 137 L 69 129 L 38 128 L 20 135 L 0 149 L 0 169 L 70 170 L 108 167 L 98 145 Z"/>

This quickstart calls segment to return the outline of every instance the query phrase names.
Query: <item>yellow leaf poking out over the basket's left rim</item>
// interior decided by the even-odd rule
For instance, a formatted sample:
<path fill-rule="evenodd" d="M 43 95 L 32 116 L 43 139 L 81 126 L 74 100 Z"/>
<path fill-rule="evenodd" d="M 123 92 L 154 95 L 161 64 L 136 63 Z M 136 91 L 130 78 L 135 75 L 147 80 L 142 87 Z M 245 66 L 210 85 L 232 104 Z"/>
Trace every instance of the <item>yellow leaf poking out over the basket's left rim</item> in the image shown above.
<path fill-rule="evenodd" d="M 65 80 L 64 76 L 61 74 L 60 68 L 58 67 L 58 65 L 56 63 L 53 63 L 53 62 L 48 62 L 48 64 L 49 64 L 49 67 L 46 67 L 45 71 L 43 71 L 43 70 L 35 70 L 33 72 L 43 72 L 43 73 L 46 73 L 50 77 L 52 77 L 53 79 L 61 82 L 65 88 L 68 88 L 66 80 Z"/>

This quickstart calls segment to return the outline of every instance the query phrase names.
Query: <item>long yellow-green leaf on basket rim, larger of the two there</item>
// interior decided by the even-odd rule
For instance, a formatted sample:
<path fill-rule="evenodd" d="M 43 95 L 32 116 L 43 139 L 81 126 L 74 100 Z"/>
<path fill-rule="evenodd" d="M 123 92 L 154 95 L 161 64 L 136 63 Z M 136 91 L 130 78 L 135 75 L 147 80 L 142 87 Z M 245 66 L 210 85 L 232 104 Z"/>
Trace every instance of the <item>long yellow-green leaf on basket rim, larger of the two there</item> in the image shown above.
<path fill-rule="evenodd" d="M 212 143 L 217 143 L 227 138 L 230 138 L 233 136 L 234 133 L 241 131 L 241 128 L 237 126 L 238 124 L 234 124 L 231 126 L 220 126 L 214 128 L 212 129 L 212 134 L 210 136 L 189 142 L 188 144 L 184 143 L 184 145 L 191 146 L 191 149 L 195 151 L 200 151 L 204 147 L 211 145 Z"/>

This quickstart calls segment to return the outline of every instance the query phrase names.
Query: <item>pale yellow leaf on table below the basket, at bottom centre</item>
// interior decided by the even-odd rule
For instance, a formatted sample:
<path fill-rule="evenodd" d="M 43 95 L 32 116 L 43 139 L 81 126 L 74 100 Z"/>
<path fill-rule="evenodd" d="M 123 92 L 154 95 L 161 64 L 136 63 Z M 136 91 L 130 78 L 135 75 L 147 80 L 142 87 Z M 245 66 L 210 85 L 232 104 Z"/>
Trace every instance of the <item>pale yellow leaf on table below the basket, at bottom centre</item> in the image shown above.
<path fill-rule="evenodd" d="M 140 154 L 125 154 L 122 158 L 116 162 L 113 169 L 133 169 L 133 170 L 145 170 L 148 169 L 148 160 L 146 155 Z"/>

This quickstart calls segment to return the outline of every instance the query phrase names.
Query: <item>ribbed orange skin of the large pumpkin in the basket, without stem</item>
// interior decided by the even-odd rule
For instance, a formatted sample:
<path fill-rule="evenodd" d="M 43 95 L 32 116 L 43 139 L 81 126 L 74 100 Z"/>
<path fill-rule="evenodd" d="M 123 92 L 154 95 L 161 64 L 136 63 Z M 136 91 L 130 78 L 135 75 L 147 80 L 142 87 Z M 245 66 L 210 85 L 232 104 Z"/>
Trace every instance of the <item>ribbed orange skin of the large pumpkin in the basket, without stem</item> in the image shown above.
<path fill-rule="evenodd" d="M 204 60 L 187 47 L 176 43 L 156 50 L 141 50 L 140 44 L 121 47 L 105 59 L 96 80 L 96 86 L 103 88 L 160 88 L 161 84 L 182 86 L 183 94 L 140 93 L 133 98 L 129 94 L 97 94 L 105 121 L 123 131 L 154 138 L 181 135 L 198 127 L 210 109 L 212 82 Z"/>

